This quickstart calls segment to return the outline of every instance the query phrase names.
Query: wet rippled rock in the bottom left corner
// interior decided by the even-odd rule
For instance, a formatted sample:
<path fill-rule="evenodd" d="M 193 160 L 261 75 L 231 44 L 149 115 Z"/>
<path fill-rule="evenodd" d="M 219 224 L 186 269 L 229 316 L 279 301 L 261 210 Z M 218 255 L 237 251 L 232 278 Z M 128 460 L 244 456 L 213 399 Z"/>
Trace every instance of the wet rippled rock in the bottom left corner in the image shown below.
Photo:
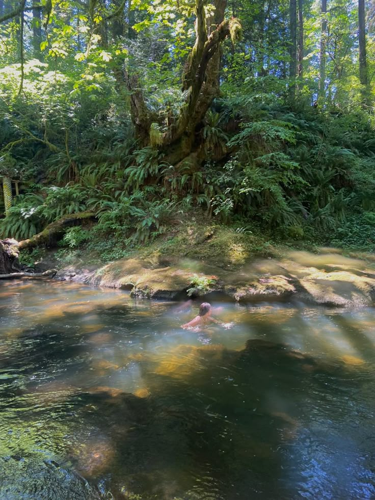
<path fill-rule="evenodd" d="M 99 492 L 76 472 L 53 460 L 0 458 L 1 500 L 100 500 Z"/>

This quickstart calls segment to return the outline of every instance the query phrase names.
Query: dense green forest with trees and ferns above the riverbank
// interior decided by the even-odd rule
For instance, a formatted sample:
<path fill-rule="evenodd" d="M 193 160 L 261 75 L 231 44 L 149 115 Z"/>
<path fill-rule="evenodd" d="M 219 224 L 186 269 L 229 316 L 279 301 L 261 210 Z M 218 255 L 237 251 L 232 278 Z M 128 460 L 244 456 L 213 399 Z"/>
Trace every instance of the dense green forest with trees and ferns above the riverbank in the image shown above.
<path fill-rule="evenodd" d="M 0 234 L 90 212 L 66 244 L 201 217 L 373 250 L 374 16 L 364 0 L 0 0 Z"/>

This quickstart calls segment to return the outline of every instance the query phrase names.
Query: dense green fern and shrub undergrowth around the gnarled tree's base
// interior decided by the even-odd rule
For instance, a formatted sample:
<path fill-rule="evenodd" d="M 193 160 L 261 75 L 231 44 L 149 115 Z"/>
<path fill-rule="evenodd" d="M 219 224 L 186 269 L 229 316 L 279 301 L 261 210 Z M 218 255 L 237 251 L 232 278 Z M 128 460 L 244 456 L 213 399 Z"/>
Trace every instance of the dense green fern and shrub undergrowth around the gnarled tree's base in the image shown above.
<path fill-rule="evenodd" d="M 198 207 L 225 224 L 236 217 L 244 227 L 259 223 L 277 238 L 330 231 L 352 244 L 337 231 L 355 213 L 370 233 L 375 208 L 369 116 L 311 106 L 291 110 L 280 88 L 264 77 L 249 81 L 245 95 L 217 99 L 197 131 L 197 154 L 176 165 L 157 149 L 167 127 L 162 118 L 151 127 L 153 146 L 140 149 L 126 114 L 109 102 L 105 118 L 90 108 L 82 150 L 70 158 L 64 148 L 43 153 L 46 178 L 58 186 L 16 198 L 0 222 L 2 235 L 29 238 L 49 222 L 89 209 L 98 219 L 91 230 L 95 241 L 113 236 L 137 245 L 163 234 L 176 212 Z M 88 241 L 83 234 L 69 230 L 65 244 Z"/>

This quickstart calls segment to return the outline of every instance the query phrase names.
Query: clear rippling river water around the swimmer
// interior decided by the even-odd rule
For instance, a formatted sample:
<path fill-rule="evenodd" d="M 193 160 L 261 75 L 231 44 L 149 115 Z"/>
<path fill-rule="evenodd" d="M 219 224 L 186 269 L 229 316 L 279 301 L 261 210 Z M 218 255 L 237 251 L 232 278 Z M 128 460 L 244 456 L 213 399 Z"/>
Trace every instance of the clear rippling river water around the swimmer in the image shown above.
<path fill-rule="evenodd" d="M 374 498 L 373 309 L 216 305 L 189 332 L 197 304 L 0 283 L 0 456 L 115 498 Z"/>

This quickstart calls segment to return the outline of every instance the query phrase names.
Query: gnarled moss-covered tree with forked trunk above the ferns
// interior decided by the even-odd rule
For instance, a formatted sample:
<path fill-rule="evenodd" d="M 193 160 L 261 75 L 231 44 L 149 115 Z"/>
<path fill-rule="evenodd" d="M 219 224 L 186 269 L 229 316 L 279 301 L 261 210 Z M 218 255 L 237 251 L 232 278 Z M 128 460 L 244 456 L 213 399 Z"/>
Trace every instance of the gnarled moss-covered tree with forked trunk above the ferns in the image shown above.
<path fill-rule="evenodd" d="M 165 161 L 172 165 L 198 152 L 195 132 L 212 100 L 219 94 L 221 43 L 227 37 L 234 43 L 240 36 L 238 19 L 225 19 L 226 3 L 226 0 L 214 0 L 214 9 L 207 14 L 207 2 L 195 2 L 196 40 L 182 74 L 184 100 L 164 132 L 159 131 L 155 112 L 147 107 L 139 75 L 127 69 L 116 72 L 118 82 L 125 83 L 130 93 L 131 117 L 140 146 L 151 145 L 152 133 L 156 131 L 157 148 L 165 153 Z"/>

